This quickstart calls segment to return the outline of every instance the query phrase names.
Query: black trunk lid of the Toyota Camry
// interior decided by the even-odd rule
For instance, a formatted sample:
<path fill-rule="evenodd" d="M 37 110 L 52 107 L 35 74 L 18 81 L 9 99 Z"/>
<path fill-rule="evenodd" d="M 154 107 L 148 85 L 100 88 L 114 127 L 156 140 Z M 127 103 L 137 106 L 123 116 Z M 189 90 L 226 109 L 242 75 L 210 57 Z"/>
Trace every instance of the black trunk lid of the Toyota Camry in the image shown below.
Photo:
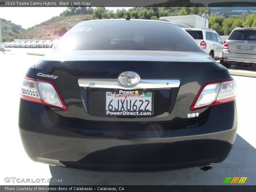
<path fill-rule="evenodd" d="M 173 88 L 139 89 L 154 94 L 152 116 L 106 116 L 106 91 L 113 89 L 84 87 L 78 82 L 117 79 L 125 71 L 134 71 L 143 80 L 179 80 L 180 84 Z M 49 54 L 35 64 L 35 74 L 39 73 L 36 78 L 51 80 L 57 85 L 68 108 L 64 116 L 92 121 L 127 121 L 129 118 L 129 121 L 140 122 L 182 122 L 190 120 L 190 107 L 201 85 L 222 78 L 222 66 L 203 52 L 74 51 Z M 201 114 L 206 109 L 198 111 Z"/>

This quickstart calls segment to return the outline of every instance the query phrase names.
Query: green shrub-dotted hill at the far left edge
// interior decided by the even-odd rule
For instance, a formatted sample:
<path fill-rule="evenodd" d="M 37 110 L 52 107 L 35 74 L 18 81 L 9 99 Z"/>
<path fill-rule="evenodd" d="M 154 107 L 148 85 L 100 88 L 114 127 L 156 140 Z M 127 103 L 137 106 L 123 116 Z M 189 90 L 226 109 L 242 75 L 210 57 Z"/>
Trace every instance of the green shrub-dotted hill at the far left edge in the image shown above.
<path fill-rule="evenodd" d="M 10 20 L 0 18 L 1 29 L 2 29 L 2 40 L 8 41 L 10 38 L 17 38 L 19 34 L 25 29 L 21 28 L 21 25 L 16 25 Z"/>

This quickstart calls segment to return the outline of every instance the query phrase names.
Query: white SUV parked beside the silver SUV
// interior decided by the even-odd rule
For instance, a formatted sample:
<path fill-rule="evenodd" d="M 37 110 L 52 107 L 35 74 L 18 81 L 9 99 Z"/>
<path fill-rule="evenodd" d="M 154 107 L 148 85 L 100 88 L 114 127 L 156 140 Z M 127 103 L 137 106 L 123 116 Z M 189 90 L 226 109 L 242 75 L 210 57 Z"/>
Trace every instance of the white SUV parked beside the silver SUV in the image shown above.
<path fill-rule="evenodd" d="M 220 35 L 208 28 L 184 28 L 199 44 L 207 54 L 215 60 L 220 60 L 222 57 L 223 44 Z"/>

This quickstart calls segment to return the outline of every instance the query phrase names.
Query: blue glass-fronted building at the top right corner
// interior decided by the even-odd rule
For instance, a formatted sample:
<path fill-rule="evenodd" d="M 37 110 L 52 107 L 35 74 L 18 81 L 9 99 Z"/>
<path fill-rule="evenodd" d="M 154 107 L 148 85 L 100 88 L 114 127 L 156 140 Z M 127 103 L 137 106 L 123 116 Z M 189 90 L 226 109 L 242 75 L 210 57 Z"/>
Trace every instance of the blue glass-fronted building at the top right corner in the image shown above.
<path fill-rule="evenodd" d="M 208 7 L 209 14 L 225 17 L 238 16 L 245 12 L 256 14 L 256 2 L 220 2 L 208 4 Z"/>

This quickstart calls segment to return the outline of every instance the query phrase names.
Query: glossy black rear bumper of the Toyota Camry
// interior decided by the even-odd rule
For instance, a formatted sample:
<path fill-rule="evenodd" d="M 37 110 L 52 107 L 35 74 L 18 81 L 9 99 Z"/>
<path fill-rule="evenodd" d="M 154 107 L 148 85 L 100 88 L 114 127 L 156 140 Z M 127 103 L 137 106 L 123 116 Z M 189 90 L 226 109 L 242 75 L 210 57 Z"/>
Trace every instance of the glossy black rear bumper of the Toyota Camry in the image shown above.
<path fill-rule="evenodd" d="M 40 112 L 30 111 L 31 107 Z M 148 123 L 150 129 L 130 132 L 118 129 L 120 124 L 116 131 L 115 127 L 114 131 L 106 129 L 104 124 L 101 130 L 95 130 L 99 122 L 88 122 L 83 130 L 60 127 L 49 122 L 46 108 L 20 101 L 20 136 L 32 160 L 58 166 L 165 170 L 219 163 L 228 156 L 236 137 L 235 101 L 212 107 L 201 126 L 162 130 L 161 125 Z"/>

